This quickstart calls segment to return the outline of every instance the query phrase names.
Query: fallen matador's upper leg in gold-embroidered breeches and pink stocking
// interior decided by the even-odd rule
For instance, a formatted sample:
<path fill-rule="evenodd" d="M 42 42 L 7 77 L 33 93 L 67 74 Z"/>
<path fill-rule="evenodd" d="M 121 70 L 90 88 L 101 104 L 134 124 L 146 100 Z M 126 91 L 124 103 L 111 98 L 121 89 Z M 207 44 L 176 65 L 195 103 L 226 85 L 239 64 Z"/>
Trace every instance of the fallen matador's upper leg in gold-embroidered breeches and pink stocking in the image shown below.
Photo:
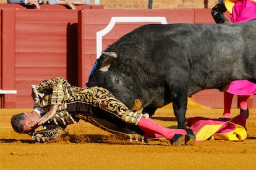
<path fill-rule="evenodd" d="M 128 124 L 134 124 L 139 126 L 145 132 L 145 136 L 163 136 L 166 137 L 169 141 L 173 139 L 175 134 L 181 136 L 187 136 L 187 131 L 185 129 L 168 129 L 160 126 L 155 123 L 153 119 L 148 118 L 147 114 L 137 113 L 129 110 L 129 108 L 124 105 L 120 100 L 116 99 L 113 94 L 108 90 L 101 87 L 92 87 L 93 91 L 93 106 L 99 107 L 102 110 L 105 110 L 106 113 L 109 113 L 113 116 L 116 116 L 122 121 Z M 192 133 L 193 134 L 193 133 Z M 192 136 L 194 140 L 195 136 Z M 190 140 L 190 137 L 186 137 L 186 141 Z M 179 141 L 173 141 L 178 142 Z"/>

